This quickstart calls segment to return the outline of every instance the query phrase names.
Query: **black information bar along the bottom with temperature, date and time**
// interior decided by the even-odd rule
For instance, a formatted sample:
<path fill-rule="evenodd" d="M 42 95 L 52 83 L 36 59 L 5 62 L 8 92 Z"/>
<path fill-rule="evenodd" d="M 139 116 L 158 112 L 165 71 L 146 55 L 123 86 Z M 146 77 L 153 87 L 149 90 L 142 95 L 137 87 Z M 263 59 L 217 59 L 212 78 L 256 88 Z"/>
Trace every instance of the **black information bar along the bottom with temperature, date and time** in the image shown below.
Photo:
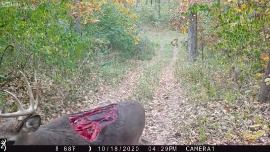
<path fill-rule="evenodd" d="M 91 149 L 91 150 L 90 150 Z M 0 152 L 270 152 L 269 146 L 6 146 Z"/>

